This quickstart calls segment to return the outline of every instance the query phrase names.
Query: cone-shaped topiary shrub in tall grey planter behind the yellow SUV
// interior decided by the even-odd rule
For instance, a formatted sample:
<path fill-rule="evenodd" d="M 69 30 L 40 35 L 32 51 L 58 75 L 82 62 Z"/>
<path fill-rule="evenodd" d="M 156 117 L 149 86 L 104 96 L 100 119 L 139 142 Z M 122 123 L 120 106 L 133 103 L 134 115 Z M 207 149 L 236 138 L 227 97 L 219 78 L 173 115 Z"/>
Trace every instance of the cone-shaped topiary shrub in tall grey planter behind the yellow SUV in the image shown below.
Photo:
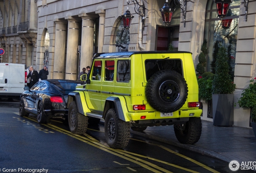
<path fill-rule="evenodd" d="M 227 49 L 224 46 L 219 47 L 212 82 L 213 125 L 215 126 L 232 126 L 234 122 L 235 84 L 229 75 L 228 59 Z"/>

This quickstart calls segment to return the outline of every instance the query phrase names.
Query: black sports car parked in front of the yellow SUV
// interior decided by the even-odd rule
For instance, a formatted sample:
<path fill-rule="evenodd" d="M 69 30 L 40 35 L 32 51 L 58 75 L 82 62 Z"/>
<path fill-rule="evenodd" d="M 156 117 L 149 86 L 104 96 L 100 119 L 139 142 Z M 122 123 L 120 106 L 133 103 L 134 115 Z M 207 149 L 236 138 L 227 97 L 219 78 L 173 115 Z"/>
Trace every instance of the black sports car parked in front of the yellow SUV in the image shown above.
<path fill-rule="evenodd" d="M 38 123 L 48 123 L 53 117 L 65 117 L 68 115 L 68 93 L 83 84 L 75 80 L 48 79 L 37 82 L 31 89 L 25 87 L 20 97 L 20 116 L 37 115 Z"/>

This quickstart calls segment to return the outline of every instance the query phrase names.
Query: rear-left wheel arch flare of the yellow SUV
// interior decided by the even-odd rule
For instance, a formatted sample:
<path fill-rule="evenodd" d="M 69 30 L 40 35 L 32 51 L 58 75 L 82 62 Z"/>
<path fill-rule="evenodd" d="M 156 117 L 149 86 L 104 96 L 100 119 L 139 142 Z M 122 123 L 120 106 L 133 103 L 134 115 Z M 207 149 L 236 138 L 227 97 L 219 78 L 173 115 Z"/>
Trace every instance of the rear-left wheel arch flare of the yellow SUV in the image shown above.
<path fill-rule="evenodd" d="M 126 113 L 128 112 L 128 110 L 126 107 L 126 101 L 125 101 L 124 97 L 111 96 L 106 99 L 104 110 L 103 110 L 103 116 L 102 116 L 103 119 L 105 119 L 107 111 L 111 108 L 116 109 L 116 114 L 118 116 L 118 119 L 120 119 L 122 121 L 130 121 L 126 117 Z"/>

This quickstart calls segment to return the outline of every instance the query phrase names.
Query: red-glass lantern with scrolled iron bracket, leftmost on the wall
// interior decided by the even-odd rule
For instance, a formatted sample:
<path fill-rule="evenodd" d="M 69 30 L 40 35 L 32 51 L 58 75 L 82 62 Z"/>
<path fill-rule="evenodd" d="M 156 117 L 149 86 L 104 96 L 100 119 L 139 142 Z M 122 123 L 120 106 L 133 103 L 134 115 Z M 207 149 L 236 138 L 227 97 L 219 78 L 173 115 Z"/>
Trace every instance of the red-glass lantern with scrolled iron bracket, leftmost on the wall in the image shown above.
<path fill-rule="evenodd" d="M 134 16 L 132 16 L 132 14 L 129 11 L 129 3 L 130 1 L 132 1 L 134 3 L 134 11 L 136 12 L 136 14 L 140 15 L 141 17 L 141 21 L 142 21 L 142 28 L 144 30 L 145 27 L 145 5 L 144 5 L 144 0 L 141 0 L 142 5 L 140 5 L 138 3 L 137 0 L 127 0 L 127 10 L 126 12 L 121 15 L 123 22 L 124 22 L 124 28 L 130 28 L 131 23 L 132 23 L 132 18 L 134 18 Z"/>

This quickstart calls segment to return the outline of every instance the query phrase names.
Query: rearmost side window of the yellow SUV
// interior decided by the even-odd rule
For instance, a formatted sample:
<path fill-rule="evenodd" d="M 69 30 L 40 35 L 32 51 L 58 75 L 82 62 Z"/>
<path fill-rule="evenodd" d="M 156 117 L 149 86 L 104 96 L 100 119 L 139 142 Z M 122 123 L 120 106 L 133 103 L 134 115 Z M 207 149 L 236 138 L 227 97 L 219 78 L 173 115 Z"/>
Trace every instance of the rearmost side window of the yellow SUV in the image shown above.
<path fill-rule="evenodd" d="M 130 82 L 130 60 L 119 60 L 117 62 L 117 82 Z"/>

